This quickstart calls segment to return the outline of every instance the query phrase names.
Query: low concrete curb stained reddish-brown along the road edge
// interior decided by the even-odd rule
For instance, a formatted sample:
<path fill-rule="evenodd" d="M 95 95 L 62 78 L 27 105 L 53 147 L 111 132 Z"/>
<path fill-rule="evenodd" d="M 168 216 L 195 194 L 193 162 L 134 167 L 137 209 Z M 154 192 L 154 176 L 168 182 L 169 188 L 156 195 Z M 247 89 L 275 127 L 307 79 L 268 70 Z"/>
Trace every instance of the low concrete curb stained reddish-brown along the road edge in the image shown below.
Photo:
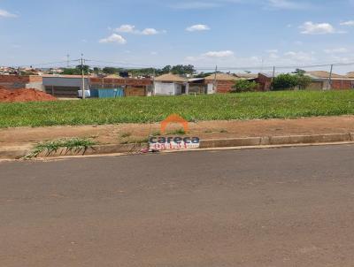
<path fill-rule="evenodd" d="M 231 138 L 219 140 L 202 140 L 200 149 L 219 149 L 219 148 L 247 148 L 247 147 L 266 147 L 296 144 L 316 144 L 316 143 L 341 143 L 354 142 L 354 133 L 328 133 L 312 135 L 290 135 L 290 136 L 265 136 L 249 138 Z M 91 155 L 110 155 L 110 154 L 138 154 L 142 149 L 147 148 L 146 144 L 112 144 L 97 145 L 89 149 L 58 149 L 50 154 L 42 153 L 38 157 L 55 156 L 91 156 Z M 197 150 L 197 149 L 193 149 Z M 0 159 L 19 159 L 27 156 L 30 149 L 0 150 Z"/>

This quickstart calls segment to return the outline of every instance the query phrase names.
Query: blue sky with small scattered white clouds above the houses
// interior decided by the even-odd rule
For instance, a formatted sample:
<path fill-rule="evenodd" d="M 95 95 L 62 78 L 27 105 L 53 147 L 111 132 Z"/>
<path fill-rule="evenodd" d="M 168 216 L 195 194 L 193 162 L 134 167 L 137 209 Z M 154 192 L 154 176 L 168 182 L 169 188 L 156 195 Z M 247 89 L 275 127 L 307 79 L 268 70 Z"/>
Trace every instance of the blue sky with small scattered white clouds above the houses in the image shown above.
<path fill-rule="evenodd" d="M 0 65 L 346 63 L 354 0 L 0 0 L 0 38 Z"/>

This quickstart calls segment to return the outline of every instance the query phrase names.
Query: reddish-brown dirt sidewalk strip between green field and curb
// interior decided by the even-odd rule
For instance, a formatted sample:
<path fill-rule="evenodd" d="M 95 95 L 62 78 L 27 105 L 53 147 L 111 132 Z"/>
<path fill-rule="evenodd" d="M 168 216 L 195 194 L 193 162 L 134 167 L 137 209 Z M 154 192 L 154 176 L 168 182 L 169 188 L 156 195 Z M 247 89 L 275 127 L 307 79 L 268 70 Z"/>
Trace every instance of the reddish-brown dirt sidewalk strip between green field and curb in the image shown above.
<path fill-rule="evenodd" d="M 173 131 L 180 126 L 170 126 Z M 0 129 L 0 147 L 51 141 L 61 138 L 91 138 L 101 144 L 146 141 L 159 134 L 159 124 L 120 124 L 110 126 L 52 126 Z M 189 124 L 189 136 L 201 139 L 286 136 L 321 133 L 354 133 L 354 116 L 249 121 L 202 121 Z M 181 134 L 178 134 L 181 135 Z"/>

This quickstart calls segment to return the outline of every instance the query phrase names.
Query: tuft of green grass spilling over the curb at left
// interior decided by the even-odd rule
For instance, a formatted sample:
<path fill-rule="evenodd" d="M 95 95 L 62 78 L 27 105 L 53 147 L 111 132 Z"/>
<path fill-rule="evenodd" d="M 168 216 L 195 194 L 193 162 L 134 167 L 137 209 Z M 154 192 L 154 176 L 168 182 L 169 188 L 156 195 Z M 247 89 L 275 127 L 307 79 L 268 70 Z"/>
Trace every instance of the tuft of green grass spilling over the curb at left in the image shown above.
<path fill-rule="evenodd" d="M 33 158 L 45 153 L 49 156 L 51 153 L 58 151 L 58 149 L 67 149 L 67 151 L 81 152 L 82 150 L 89 149 L 96 145 L 95 141 L 89 139 L 73 138 L 73 139 L 60 139 L 57 141 L 45 141 L 35 146 L 33 151 L 25 156 L 25 158 Z"/>

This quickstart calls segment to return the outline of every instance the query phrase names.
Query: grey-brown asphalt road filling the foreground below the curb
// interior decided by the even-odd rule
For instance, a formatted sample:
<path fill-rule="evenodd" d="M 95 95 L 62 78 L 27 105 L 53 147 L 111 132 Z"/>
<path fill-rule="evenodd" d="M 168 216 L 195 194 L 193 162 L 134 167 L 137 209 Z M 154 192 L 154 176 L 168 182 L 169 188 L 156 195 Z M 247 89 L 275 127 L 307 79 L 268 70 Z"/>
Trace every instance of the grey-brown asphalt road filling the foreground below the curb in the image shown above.
<path fill-rule="evenodd" d="M 0 266 L 353 266 L 354 146 L 0 164 Z"/>

